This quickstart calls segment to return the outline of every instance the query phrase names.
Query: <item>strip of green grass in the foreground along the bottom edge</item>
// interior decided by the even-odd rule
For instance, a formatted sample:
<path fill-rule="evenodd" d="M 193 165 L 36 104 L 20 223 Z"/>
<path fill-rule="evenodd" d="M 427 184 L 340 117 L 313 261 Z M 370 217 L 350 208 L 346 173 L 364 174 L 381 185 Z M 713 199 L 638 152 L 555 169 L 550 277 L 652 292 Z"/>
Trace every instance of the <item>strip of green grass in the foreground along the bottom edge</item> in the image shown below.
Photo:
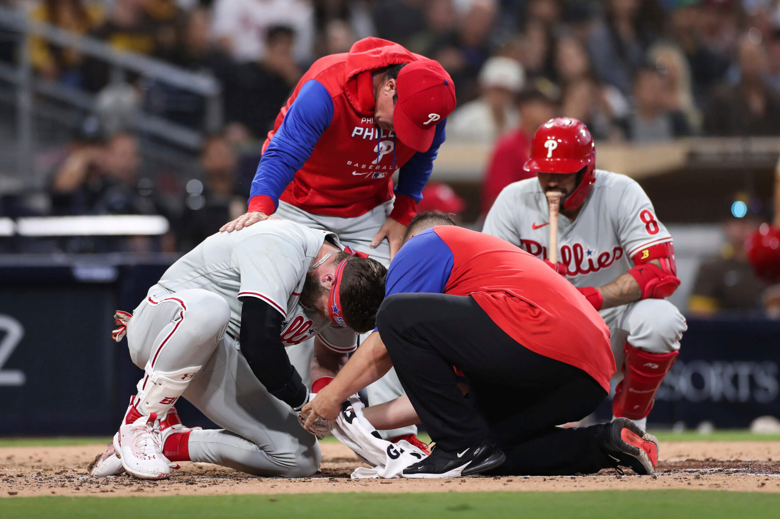
<path fill-rule="evenodd" d="M 577 493 L 342 493 L 278 496 L 26 497 L 2 500 L 3 519 L 317 517 L 398 519 L 676 519 L 778 517 L 780 494 L 655 490 Z"/>

